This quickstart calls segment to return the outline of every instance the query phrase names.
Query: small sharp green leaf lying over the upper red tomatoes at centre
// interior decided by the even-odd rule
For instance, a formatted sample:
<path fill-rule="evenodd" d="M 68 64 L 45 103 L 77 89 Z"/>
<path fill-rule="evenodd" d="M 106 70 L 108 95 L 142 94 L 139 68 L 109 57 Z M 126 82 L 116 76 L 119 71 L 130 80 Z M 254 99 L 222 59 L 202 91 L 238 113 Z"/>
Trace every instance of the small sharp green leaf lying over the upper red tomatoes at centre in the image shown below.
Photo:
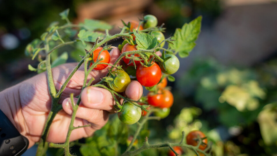
<path fill-rule="evenodd" d="M 138 44 L 136 49 L 138 50 L 152 49 L 158 44 L 157 38 L 147 33 L 137 33 L 134 30 L 134 35 L 136 36 L 136 43 Z"/>

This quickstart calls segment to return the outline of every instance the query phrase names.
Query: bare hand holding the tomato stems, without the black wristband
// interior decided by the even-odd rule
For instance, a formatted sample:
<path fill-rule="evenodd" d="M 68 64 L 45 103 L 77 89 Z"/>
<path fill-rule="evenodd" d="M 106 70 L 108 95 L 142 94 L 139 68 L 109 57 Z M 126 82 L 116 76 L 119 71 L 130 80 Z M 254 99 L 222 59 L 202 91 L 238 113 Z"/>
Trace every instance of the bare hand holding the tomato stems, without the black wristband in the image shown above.
<path fill-rule="evenodd" d="M 113 64 L 119 56 L 120 51 L 113 49 L 110 63 Z M 61 88 L 61 85 L 75 66 L 76 63 L 67 63 L 52 69 L 56 90 Z M 94 77 L 93 83 L 96 83 L 106 73 L 107 70 L 93 70 L 88 79 Z M 74 126 L 82 126 L 89 123 L 91 126 L 73 130 L 70 140 L 91 136 L 93 132 L 105 125 L 109 113 L 115 112 L 113 107 L 115 101 L 108 90 L 90 86 L 81 93 L 84 75 L 83 66 L 81 66 L 61 94 L 59 103 L 62 104 L 63 110 L 56 115 L 51 124 L 47 138 L 48 142 L 60 143 L 65 141 L 72 113 L 69 99 L 71 93 L 74 93 L 74 96 L 81 94 L 81 103 L 76 113 Z M 141 84 L 137 81 L 132 81 L 128 85 L 125 94 L 128 98 L 138 100 L 142 96 L 142 92 Z M 51 109 L 51 97 L 48 92 L 46 73 L 36 75 L 0 92 L 0 98 L 4 99 L 0 109 L 8 116 L 18 131 L 29 139 L 29 147 L 33 146 L 41 137 Z"/>

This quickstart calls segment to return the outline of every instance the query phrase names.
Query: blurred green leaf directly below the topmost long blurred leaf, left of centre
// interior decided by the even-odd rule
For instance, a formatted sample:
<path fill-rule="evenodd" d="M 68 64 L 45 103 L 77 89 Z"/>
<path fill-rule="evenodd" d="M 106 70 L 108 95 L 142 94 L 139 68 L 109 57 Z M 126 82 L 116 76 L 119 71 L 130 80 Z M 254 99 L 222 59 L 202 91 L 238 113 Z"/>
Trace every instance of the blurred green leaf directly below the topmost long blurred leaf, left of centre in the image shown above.
<path fill-rule="evenodd" d="M 78 33 L 78 37 L 79 40 L 82 41 L 83 45 L 86 46 L 85 42 L 95 42 L 98 37 L 100 37 L 100 39 L 103 39 L 104 34 L 99 32 L 81 30 Z"/>

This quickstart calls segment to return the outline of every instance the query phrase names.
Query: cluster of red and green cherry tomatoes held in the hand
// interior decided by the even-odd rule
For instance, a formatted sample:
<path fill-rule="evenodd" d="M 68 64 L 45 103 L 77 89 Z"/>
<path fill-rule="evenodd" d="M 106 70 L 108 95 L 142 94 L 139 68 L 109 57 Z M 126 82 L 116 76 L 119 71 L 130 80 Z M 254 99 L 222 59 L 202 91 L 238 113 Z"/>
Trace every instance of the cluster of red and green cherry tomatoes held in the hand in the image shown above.
<path fill-rule="evenodd" d="M 158 20 L 153 15 L 144 16 L 144 19 L 141 22 L 130 21 L 128 25 L 125 24 L 128 27 L 127 33 L 130 33 L 133 36 L 133 42 L 123 41 L 121 45 L 122 48 L 119 48 L 119 50 L 121 50 L 121 54 L 137 50 L 137 45 L 133 44 L 136 43 L 136 36 L 132 33 L 133 31 L 149 30 L 150 28 L 156 27 L 157 24 Z M 145 33 L 156 37 L 157 42 L 161 43 L 160 47 L 164 46 L 164 42 L 162 41 L 165 39 L 165 37 L 161 31 L 146 31 Z M 148 62 L 144 62 L 145 59 L 142 59 L 139 54 L 129 54 L 126 56 L 124 56 L 122 60 L 123 62 L 125 62 L 125 66 L 127 67 L 134 66 L 134 69 L 136 70 L 137 81 L 139 81 L 139 83 L 141 83 L 141 85 L 145 87 L 154 87 L 154 91 L 152 90 L 147 95 L 147 102 L 152 106 L 161 108 L 160 111 L 155 112 L 155 115 L 160 116 L 161 118 L 168 116 L 170 112 L 170 107 L 173 104 L 173 95 L 168 89 L 166 89 L 166 75 L 173 74 L 179 69 L 178 58 L 173 54 L 164 54 L 164 58 L 167 59 L 164 62 L 156 63 L 153 58 L 155 57 L 154 55 L 144 55 L 144 58 L 147 58 Z M 98 64 L 96 67 L 93 68 L 95 70 L 102 70 L 108 66 L 111 58 L 107 50 L 103 50 L 102 47 L 98 47 L 93 52 L 92 59 L 94 62 L 102 59 L 100 63 L 103 62 L 104 64 Z M 162 75 L 162 73 L 164 73 L 164 76 Z M 113 79 L 109 79 L 108 81 L 106 81 L 107 85 L 115 92 L 124 92 L 128 84 L 130 83 L 130 77 L 124 70 L 113 70 L 109 72 L 109 77 Z M 139 121 L 142 114 L 146 115 L 147 112 L 142 111 L 140 107 L 135 106 L 130 102 L 125 102 L 123 104 L 123 108 L 118 113 L 118 117 L 123 123 L 130 125 Z"/>

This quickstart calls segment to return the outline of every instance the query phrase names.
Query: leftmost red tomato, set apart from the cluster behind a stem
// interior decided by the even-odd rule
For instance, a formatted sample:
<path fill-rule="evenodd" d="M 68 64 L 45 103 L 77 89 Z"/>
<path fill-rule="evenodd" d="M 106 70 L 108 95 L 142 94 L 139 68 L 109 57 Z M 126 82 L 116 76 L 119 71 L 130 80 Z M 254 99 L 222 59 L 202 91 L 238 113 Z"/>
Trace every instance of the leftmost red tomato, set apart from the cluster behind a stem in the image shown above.
<path fill-rule="evenodd" d="M 97 58 L 98 58 L 98 55 L 100 53 L 100 51 L 102 50 L 103 48 L 102 47 L 98 47 L 96 48 L 96 50 L 93 51 L 93 61 L 96 62 Z M 103 62 L 103 63 L 110 63 L 110 60 L 111 60 L 111 56 L 110 56 L 110 53 L 108 52 L 108 50 L 103 50 L 99 56 L 99 60 L 103 58 L 103 60 L 101 60 L 100 62 Z M 90 64 L 90 66 L 92 65 L 92 63 Z M 108 66 L 108 64 L 98 64 L 95 68 L 95 70 L 102 70 L 102 69 L 105 69 L 106 67 Z"/>

